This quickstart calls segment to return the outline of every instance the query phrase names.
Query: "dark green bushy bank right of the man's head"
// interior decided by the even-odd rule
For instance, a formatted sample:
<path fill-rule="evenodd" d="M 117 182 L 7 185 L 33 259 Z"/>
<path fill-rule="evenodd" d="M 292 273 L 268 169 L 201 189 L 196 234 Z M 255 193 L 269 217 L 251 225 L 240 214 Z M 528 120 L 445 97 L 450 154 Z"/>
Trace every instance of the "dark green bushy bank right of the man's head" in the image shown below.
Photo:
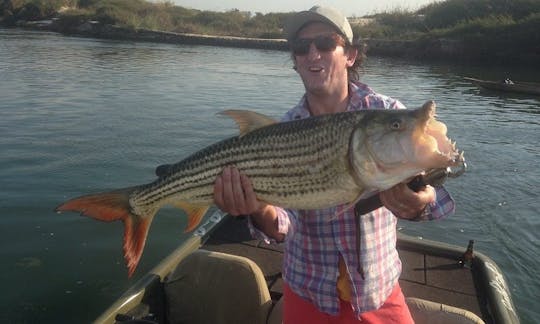
<path fill-rule="evenodd" d="M 364 38 L 409 40 L 415 53 L 429 58 L 446 52 L 451 60 L 532 64 L 540 62 L 540 1 L 447 0 L 416 12 L 396 10 L 354 26 Z M 437 52 L 433 47 L 439 47 Z M 394 49 L 395 50 L 395 49 Z M 403 53 L 403 49 L 394 54 Z M 444 53 L 443 53 L 444 54 Z"/>

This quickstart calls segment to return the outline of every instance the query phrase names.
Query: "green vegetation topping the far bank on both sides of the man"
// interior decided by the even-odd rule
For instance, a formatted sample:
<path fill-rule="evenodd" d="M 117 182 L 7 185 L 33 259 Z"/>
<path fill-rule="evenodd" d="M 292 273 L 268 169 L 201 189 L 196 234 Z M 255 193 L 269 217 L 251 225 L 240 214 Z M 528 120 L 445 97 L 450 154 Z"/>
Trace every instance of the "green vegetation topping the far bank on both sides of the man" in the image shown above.
<path fill-rule="evenodd" d="M 70 22 L 92 19 L 131 29 L 260 38 L 283 37 L 281 28 L 291 14 L 201 11 L 145 0 L 0 0 L 0 10 L 2 2 L 10 2 L 13 13 L 24 20 L 59 15 Z M 363 38 L 384 39 L 467 37 L 503 31 L 532 35 L 539 30 L 539 15 L 538 0 L 447 0 L 414 12 L 396 9 L 366 16 L 371 23 L 353 25 L 353 29 Z"/>

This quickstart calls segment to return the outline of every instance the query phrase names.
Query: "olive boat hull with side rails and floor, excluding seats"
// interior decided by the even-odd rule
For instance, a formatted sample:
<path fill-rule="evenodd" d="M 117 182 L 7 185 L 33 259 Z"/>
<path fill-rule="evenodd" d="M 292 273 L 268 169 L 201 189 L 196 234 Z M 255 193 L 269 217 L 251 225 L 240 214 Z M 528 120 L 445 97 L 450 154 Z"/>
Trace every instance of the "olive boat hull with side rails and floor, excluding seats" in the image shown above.
<path fill-rule="evenodd" d="M 283 286 L 282 244 L 266 245 L 253 240 L 244 218 L 225 216 L 215 211 L 206 219 L 195 235 L 128 289 L 96 323 L 148 318 L 149 314 L 152 314 L 149 319 L 152 323 L 166 323 L 164 286 L 167 276 L 184 258 L 200 248 L 253 260 L 261 268 L 270 296 L 276 303 Z M 400 285 L 405 296 L 465 309 L 486 323 L 519 323 L 504 276 L 488 256 L 475 251 L 471 267 L 462 267 L 458 260 L 465 246 L 401 233 L 398 234 L 397 248 L 403 261 Z"/>

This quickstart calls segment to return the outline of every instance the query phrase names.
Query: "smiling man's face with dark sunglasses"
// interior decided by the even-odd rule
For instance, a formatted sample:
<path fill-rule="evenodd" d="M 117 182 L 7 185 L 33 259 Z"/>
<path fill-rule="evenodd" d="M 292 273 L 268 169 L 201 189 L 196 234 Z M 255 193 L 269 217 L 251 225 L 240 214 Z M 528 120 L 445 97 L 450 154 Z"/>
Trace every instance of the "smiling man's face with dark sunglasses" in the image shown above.
<path fill-rule="evenodd" d="M 328 50 L 324 46 L 318 48 L 315 41 L 310 43 L 307 53 L 294 54 L 296 71 L 306 91 L 314 95 L 331 95 L 342 91 L 343 87 L 347 89 L 347 68 L 354 64 L 356 51 L 345 51 L 343 38 L 331 26 L 318 22 L 303 27 L 295 41 L 306 44 L 318 38 L 324 44 L 324 40 L 328 41 L 329 37 L 338 39 L 335 49 Z"/>

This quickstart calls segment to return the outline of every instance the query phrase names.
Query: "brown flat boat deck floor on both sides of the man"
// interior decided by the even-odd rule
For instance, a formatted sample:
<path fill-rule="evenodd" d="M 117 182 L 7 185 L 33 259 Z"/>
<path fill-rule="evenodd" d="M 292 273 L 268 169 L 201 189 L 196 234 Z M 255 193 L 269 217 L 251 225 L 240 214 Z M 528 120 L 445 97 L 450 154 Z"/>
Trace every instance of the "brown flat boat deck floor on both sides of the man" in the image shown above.
<path fill-rule="evenodd" d="M 277 300 L 282 295 L 281 259 L 283 246 L 254 240 L 241 217 L 229 217 L 214 229 L 204 243 L 204 249 L 247 257 L 263 271 L 270 295 Z M 448 255 L 429 254 L 418 250 L 406 239 L 398 240 L 398 251 L 403 263 L 400 279 L 406 297 L 417 297 L 467 309 L 479 317 L 482 315 L 483 298 L 477 293 L 473 272 L 458 263 L 459 253 Z M 459 285 L 456 285 L 459 283 Z M 485 313 L 485 312 L 484 312 Z M 484 319 L 486 320 L 486 319 Z"/>

